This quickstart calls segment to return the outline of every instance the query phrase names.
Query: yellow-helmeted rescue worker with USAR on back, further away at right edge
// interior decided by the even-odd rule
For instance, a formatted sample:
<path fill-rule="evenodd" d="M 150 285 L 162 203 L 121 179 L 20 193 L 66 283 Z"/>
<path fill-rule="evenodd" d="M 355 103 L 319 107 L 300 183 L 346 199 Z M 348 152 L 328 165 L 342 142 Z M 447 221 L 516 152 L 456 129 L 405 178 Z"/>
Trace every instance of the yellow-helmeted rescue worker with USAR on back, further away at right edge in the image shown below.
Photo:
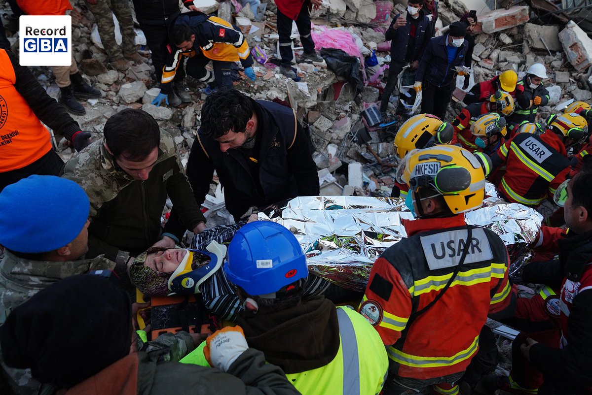
<path fill-rule="evenodd" d="M 552 197 L 570 174 L 567 148 L 588 138 L 588 125 L 575 113 L 551 115 L 542 135 L 519 133 L 491 156 L 493 168 L 506 164 L 497 185 L 508 202 L 537 207 Z"/>

